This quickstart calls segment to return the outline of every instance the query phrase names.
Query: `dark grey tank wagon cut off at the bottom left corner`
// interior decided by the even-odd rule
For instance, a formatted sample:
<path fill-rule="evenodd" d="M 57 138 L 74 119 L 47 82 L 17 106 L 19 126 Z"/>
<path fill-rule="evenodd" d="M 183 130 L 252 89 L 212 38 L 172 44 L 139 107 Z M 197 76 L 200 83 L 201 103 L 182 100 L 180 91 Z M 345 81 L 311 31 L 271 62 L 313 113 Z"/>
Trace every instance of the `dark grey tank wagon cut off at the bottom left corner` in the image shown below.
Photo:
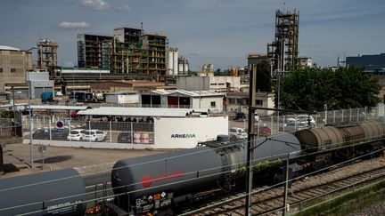
<path fill-rule="evenodd" d="M 74 169 L 0 180 L 0 215 L 84 215 L 85 186 Z"/>

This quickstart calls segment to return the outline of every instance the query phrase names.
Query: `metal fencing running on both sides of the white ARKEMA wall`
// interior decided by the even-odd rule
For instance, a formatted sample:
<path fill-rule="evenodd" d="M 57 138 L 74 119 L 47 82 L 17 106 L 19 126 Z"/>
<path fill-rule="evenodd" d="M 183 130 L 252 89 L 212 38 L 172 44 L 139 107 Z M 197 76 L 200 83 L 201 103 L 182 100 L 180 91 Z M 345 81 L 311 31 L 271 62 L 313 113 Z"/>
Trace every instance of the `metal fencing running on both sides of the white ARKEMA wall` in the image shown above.
<path fill-rule="evenodd" d="M 227 113 L 229 120 L 233 121 L 233 113 Z M 258 136 L 277 134 L 282 132 L 296 132 L 309 127 L 308 122 L 296 121 L 298 115 L 291 116 L 266 116 L 260 117 L 254 124 Z M 302 115 L 303 116 L 303 115 Z M 329 110 L 312 115 L 314 123 L 311 127 L 323 127 L 324 125 L 348 124 L 363 122 L 369 119 L 379 118 L 379 108 L 350 108 L 343 110 Z M 242 123 L 243 121 L 243 123 Z M 247 119 L 238 120 L 238 126 L 247 130 Z M 22 119 L 23 134 L 29 139 L 29 119 Z M 70 120 L 66 116 L 33 116 L 31 120 L 33 139 L 37 140 L 77 140 L 69 139 L 69 134 L 74 130 L 99 130 L 105 136 L 97 141 L 111 143 L 153 144 L 154 124 L 152 122 L 122 122 L 122 121 L 83 121 Z M 11 131 L 4 131 L 6 135 Z M 14 132 L 13 132 L 14 133 Z M 1 134 L 1 131 L 0 131 Z M 1 135 L 0 135 L 1 136 Z M 93 142 L 95 140 L 82 140 Z"/>

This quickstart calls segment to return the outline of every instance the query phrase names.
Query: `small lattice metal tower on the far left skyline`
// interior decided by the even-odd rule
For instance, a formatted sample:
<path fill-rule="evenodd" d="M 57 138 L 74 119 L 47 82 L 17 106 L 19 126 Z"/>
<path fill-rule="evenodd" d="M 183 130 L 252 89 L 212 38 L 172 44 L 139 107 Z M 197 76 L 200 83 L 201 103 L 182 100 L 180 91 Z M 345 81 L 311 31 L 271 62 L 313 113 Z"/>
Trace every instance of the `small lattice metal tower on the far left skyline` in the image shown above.
<path fill-rule="evenodd" d="M 50 77 L 55 77 L 57 69 L 57 48 L 59 44 L 49 39 L 40 39 L 37 42 L 37 67 L 46 69 Z"/>

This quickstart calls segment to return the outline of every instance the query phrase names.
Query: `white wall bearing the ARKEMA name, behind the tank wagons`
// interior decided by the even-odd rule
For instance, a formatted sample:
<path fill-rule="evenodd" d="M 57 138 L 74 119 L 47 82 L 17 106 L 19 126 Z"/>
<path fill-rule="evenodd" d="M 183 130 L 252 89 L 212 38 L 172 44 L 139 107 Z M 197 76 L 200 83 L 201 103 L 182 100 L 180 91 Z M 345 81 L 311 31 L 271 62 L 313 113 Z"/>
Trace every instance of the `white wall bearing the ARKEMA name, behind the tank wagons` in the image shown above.
<path fill-rule="evenodd" d="M 155 118 L 153 148 L 194 148 L 219 134 L 228 134 L 227 116 Z"/>

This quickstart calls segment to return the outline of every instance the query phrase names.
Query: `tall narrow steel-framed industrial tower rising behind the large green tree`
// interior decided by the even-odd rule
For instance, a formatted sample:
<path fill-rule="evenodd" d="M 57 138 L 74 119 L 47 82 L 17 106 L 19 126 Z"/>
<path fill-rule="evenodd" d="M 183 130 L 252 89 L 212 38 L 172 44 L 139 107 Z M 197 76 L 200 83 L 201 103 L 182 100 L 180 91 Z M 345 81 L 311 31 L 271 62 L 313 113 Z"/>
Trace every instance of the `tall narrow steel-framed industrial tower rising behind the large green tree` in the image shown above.
<path fill-rule="evenodd" d="M 298 65 L 299 12 L 275 12 L 274 41 L 267 44 L 267 57 L 272 60 L 273 71 L 287 71 Z"/>

